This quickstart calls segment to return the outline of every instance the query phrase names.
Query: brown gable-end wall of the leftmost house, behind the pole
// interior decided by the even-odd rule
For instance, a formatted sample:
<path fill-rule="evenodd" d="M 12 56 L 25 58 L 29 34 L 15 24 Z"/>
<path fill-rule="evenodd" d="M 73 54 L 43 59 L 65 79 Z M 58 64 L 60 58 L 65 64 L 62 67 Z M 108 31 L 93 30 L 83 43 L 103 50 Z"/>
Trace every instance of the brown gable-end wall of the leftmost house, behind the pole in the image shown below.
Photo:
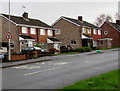
<path fill-rule="evenodd" d="M 2 42 L 8 42 L 8 39 L 6 39 L 6 35 L 9 29 L 9 20 L 3 17 L 1 18 L 2 18 Z M 19 26 L 16 26 L 15 24 L 10 23 L 10 33 L 12 35 L 11 42 L 14 44 L 14 52 L 20 51 L 19 36 L 18 36 L 19 30 L 20 30 Z"/>

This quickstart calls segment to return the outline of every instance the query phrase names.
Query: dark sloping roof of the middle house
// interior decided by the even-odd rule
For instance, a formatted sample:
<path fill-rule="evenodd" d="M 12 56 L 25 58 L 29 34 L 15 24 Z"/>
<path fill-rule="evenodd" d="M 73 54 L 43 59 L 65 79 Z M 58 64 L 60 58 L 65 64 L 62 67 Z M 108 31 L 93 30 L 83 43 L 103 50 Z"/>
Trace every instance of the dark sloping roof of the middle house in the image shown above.
<path fill-rule="evenodd" d="M 99 28 L 100 29 L 100 27 L 97 27 L 97 26 L 95 26 L 95 25 L 93 25 L 93 24 L 91 24 L 89 22 L 86 22 L 86 21 L 80 21 L 78 19 L 73 19 L 73 18 L 68 18 L 68 17 L 63 17 L 63 18 L 65 18 L 65 19 L 67 19 L 67 20 L 69 20 L 69 21 L 71 21 L 73 23 L 76 23 L 77 25 L 88 26 L 88 27 Z"/>

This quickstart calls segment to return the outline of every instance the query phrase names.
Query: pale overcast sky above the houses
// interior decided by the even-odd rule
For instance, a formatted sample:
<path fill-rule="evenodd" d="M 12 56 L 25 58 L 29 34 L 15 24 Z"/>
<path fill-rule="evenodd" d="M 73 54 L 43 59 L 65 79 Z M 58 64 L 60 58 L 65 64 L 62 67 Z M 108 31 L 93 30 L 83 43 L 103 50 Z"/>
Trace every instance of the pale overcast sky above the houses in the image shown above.
<path fill-rule="evenodd" d="M 0 0 L 0 13 L 9 14 L 9 0 Z M 59 17 L 66 16 L 94 23 L 102 13 L 112 16 L 118 12 L 119 0 L 10 0 L 10 14 L 22 16 L 28 12 L 29 18 L 39 19 L 52 25 Z M 23 8 L 22 6 L 25 6 Z"/>

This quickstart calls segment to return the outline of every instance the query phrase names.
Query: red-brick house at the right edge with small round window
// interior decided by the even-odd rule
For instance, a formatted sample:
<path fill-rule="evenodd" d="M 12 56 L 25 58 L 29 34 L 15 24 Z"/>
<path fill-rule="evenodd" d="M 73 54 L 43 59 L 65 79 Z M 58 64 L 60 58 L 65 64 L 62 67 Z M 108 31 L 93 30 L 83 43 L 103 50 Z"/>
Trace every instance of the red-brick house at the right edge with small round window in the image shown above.
<path fill-rule="evenodd" d="M 120 20 L 113 22 L 104 22 L 101 26 L 102 40 L 108 40 L 108 45 L 112 47 L 120 47 Z M 104 43 L 103 46 L 105 47 Z"/>

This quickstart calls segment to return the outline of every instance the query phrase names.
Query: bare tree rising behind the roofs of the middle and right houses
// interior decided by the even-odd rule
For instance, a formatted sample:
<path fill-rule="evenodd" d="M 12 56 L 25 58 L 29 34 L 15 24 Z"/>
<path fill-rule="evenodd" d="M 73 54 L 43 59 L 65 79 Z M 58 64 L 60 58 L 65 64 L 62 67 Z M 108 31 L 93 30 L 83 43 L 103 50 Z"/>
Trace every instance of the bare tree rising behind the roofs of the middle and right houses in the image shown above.
<path fill-rule="evenodd" d="M 95 20 L 95 25 L 101 26 L 105 21 L 113 22 L 113 19 L 110 15 L 101 14 Z"/>

